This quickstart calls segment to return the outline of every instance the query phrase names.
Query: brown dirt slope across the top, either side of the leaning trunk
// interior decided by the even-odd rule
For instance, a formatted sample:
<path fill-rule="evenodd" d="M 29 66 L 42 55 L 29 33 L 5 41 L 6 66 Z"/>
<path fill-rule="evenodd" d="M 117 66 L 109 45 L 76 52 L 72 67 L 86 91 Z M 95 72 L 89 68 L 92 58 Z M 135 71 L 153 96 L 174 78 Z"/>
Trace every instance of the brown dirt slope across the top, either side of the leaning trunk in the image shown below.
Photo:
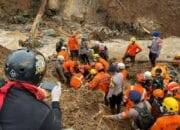
<path fill-rule="evenodd" d="M 27 13 L 33 16 L 39 3 L 40 0 L 1 0 L 1 20 L 16 21 L 15 15 Z M 60 0 L 58 17 L 81 24 L 105 24 L 128 33 L 141 32 L 143 26 L 150 31 L 161 30 L 164 36 L 180 36 L 179 0 Z"/>

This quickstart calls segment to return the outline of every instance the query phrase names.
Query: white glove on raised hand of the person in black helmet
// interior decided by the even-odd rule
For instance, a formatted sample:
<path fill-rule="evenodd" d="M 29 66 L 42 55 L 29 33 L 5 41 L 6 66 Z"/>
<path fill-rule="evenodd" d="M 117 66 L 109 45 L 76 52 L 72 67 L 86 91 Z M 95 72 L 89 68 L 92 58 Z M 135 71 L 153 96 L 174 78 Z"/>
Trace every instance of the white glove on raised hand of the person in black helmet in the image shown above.
<path fill-rule="evenodd" d="M 51 91 L 52 102 L 59 102 L 61 96 L 61 83 L 57 82 L 57 86 Z"/>

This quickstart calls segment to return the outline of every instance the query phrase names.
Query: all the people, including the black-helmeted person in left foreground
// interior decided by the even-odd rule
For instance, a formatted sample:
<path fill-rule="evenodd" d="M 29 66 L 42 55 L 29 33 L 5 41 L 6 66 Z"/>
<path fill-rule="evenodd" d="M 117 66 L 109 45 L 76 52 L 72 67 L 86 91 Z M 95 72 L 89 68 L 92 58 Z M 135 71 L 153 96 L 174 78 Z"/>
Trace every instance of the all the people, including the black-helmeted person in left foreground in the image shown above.
<path fill-rule="evenodd" d="M 90 47 L 86 38 L 79 40 L 79 33 L 70 36 L 67 44 L 60 39 L 53 74 L 77 91 L 82 85 L 102 91 L 112 112 L 104 119 L 129 118 L 132 127 L 140 130 L 180 129 L 180 84 L 176 75 L 168 72 L 167 78 L 166 70 L 156 65 L 163 41 L 159 32 L 152 36 L 148 46 L 152 71 L 137 73 L 130 86 L 125 86 L 131 77 L 126 59 L 130 58 L 133 66 L 136 55 L 143 51 L 135 37 L 121 61 L 109 58 L 103 43 Z M 51 85 L 51 107 L 42 101 L 47 97 L 41 82 L 46 70 L 44 56 L 32 49 L 18 49 L 8 56 L 4 70 L 7 79 L 0 82 L 0 130 L 61 129 L 60 82 Z"/>

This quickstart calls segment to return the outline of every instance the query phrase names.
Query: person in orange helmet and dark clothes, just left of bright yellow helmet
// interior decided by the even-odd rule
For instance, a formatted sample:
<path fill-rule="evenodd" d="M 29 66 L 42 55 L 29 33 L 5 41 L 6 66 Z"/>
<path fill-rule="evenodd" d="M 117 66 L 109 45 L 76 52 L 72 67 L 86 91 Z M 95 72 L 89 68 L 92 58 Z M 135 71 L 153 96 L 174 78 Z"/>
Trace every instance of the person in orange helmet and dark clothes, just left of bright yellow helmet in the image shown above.
<path fill-rule="evenodd" d="M 152 99 L 152 115 L 155 119 L 159 118 L 164 114 L 162 102 L 164 99 L 164 91 L 162 89 L 155 89 L 153 91 L 153 99 Z"/>

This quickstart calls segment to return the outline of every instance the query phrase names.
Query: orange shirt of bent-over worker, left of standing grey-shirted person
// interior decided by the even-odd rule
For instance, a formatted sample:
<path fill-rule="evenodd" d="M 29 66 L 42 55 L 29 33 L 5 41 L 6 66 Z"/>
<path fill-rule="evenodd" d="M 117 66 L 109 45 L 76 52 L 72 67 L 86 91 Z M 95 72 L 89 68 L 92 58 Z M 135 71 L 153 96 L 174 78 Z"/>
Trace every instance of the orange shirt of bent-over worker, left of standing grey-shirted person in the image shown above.
<path fill-rule="evenodd" d="M 111 82 L 111 77 L 106 72 L 99 72 L 93 78 L 92 81 L 89 82 L 89 88 L 99 89 L 103 91 L 105 94 L 109 91 L 109 84 Z"/>

